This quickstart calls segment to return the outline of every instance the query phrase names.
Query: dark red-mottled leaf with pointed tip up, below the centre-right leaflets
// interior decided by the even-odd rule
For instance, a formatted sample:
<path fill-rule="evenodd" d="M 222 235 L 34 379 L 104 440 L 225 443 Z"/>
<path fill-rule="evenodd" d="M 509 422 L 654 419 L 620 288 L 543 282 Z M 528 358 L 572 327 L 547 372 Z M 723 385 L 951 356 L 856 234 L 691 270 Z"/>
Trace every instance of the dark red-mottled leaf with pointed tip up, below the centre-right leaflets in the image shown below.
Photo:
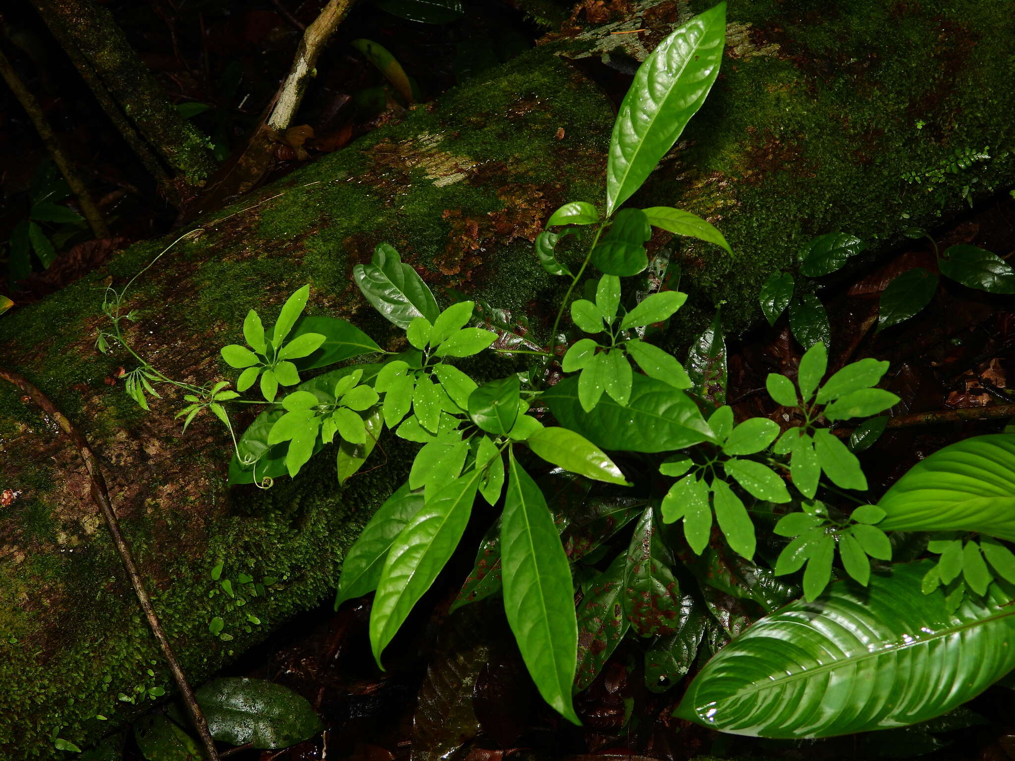
<path fill-rule="evenodd" d="M 624 613 L 631 629 L 641 637 L 668 635 L 680 613 L 680 587 L 673 575 L 676 560 L 656 526 L 652 505 L 646 507 L 627 546 Z"/>

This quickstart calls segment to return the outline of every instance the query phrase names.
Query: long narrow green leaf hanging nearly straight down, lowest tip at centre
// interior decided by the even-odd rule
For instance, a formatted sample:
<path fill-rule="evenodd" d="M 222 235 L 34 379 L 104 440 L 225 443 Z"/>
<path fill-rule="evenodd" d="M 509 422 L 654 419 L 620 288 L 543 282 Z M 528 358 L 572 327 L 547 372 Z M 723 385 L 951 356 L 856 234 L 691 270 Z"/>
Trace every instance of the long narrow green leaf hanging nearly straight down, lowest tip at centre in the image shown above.
<path fill-rule="evenodd" d="M 513 453 L 509 466 L 500 520 L 504 613 L 539 694 L 581 723 L 571 705 L 578 623 L 570 566 L 542 490 Z"/>

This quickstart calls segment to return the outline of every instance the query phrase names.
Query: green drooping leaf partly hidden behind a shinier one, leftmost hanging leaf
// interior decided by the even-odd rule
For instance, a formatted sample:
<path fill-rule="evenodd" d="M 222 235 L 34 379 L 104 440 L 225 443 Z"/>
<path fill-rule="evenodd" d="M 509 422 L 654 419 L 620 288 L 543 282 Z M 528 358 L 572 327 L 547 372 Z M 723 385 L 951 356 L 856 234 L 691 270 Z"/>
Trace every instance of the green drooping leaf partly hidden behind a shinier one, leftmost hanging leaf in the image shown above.
<path fill-rule="evenodd" d="M 335 610 L 346 600 L 367 595 L 377 589 L 388 551 L 422 506 L 423 495 L 413 493 L 409 484 L 405 483 L 378 508 L 342 562 Z"/>

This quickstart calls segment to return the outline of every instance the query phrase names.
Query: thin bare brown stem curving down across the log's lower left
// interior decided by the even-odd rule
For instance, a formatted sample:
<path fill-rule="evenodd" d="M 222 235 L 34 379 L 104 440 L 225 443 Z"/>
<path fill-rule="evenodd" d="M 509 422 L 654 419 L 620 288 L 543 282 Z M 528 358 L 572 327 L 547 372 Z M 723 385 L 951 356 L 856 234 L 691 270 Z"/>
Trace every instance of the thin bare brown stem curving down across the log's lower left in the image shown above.
<path fill-rule="evenodd" d="M 162 658 L 168 664 L 173 678 L 180 688 L 180 694 L 187 704 L 191 717 L 194 719 L 194 727 L 197 729 L 198 735 L 201 737 L 201 742 L 204 744 L 207 761 L 218 761 L 218 750 L 215 748 L 215 741 L 208 731 L 208 722 L 201 712 L 201 706 L 197 704 L 194 690 L 191 689 L 190 684 L 187 682 L 187 677 L 184 675 L 183 669 L 180 668 L 180 662 L 177 661 L 168 637 L 165 636 L 162 625 L 158 621 L 158 616 L 151 604 L 151 598 L 148 597 L 148 593 L 145 591 L 144 581 L 141 579 L 137 564 L 134 562 L 130 545 L 127 544 L 127 540 L 120 531 L 120 524 L 117 521 L 117 514 L 110 501 L 109 488 L 106 485 L 106 478 L 103 476 L 98 458 L 91 451 L 84 435 L 71 424 L 70 420 L 57 409 L 56 405 L 53 404 L 50 398 L 39 387 L 20 373 L 2 366 L 0 366 L 0 378 L 13 384 L 21 393 L 42 407 L 43 411 L 56 421 L 63 432 L 67 434 L 67 437 L 77 447 L 78 454 L 80 454 L 81 459 L 84 461 L 84 467 L 88 471 L 88 478 L 91 481 L 91 499 L 97 505 L 99 512 L 103 513 L 103 517 L 106 520 L 106 526 L 110 531 L 110 536 L 113 538 L 113 544 L 116 546 L 124 569 L 130 577 L 137 601 L 141 605 L 145 617 L 148 619 L 148 626 L 151 628 L 151 633 L 154 635 L 155 641 L 158 642 L 159 649 L 162 651 Z"/>

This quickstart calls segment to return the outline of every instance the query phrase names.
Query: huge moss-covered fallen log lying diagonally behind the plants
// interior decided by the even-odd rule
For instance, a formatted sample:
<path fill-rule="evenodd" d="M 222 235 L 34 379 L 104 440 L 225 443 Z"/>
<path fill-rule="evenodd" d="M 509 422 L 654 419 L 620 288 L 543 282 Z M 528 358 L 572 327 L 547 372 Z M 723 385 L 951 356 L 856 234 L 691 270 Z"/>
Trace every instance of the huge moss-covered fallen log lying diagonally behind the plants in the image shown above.
<path fill-rule="evenodd" d="M 201 220 L 203 232 L 175 246 L 128 294 L 140 310 L 133 346 L 188 383 L 231 378 L 217 350 L 238 340 L 247 310 L 270 321 L 310 282 L 311 314 L 352 320 L 394 347 L 350 278 L 382 240 L 420 268 L 438 297 L 465 290 L 544 322 L 561 289 L 538 269 L 531 241 L 560 203 L 600 201 L 613 120 L 603 90 L 558 54 L 599 55 L 631 37 L 609 32 L 641 28 L 626 52 L 609 52 L 623 68 L 691 12 L 670 0 L 631 5 L 626 20 L 565 29 Z M 749 325 L 760 316 L 761 282 L 813 234 L 843 229 L 890 241 L 1015 181 L 1015 19 L 1004 3 L 772 0 L 735 3 L 730 18 L 713 94 L 633 199 L 707 217 L 733 246 L 733 257 L 697 244 L 678 250 L 693 308 L 681 313 L 675 342 L 720 301 L 731 330 Z M 968 151 L 990 157 L 956 159 Z M 294 482 L 226 489 L 230 445 L 220 426 L 198 418 L 183 433 L 172 394 L 153 400 L 151 412 L 138 409 L 116 382 L 121 366 L 133 367 L 130 357 L 93 348 L 107 279 L 123 285 L 171 239 L 136 245 L 4 316 L 0 348 L 103 458 L 167 633 L 199 681 L 328 596 L 344 550 L 404 477 L 409 449 L 386 438 L 385 467 L 345 487 L 322 455 Z M 374 457 L 381 464 L 385 455 Z M 5 489 L 0 755 L 50 758 L 54 728 L 83 747 L 139 710 L 119 695 L 167 689 L 170 679 L 73 446 L 0 387 Z M 218 635 L 209 630 L 216 617 Z"/>

